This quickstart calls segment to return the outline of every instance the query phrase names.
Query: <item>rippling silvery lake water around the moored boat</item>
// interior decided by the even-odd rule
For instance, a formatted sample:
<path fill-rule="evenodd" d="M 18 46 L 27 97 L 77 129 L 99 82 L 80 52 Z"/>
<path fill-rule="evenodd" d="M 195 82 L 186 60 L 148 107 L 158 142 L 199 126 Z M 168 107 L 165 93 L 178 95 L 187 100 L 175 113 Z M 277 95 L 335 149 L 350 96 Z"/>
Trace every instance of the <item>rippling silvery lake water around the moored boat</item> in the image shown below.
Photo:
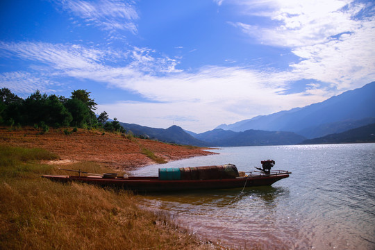
<path fill-rule="evenodd" d="M 225 147 L 219 154 L 144 167 L 235 164 L 250 172 L 260 160 L 289 178 L 270 187 L 150 194 L 145 205 L 166 210 L 197 235 L 231 247 L 375 249 L 375 144 Z"/>

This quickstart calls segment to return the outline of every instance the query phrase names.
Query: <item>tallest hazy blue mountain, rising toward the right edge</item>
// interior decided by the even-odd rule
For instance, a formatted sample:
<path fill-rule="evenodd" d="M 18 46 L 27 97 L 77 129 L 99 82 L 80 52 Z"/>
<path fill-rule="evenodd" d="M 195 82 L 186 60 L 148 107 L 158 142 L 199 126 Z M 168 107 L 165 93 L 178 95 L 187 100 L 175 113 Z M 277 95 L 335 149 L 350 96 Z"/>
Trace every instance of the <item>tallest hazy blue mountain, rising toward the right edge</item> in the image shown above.
<path fill-rule="evenodd" d="M 291 131 L 306 138 L 337 133 L 340 126 L 337 122 L 354 121 L 375 117 L 375 82 L 368 83 L 363 88 L 350 90 L 338 96 L 331 97 L 321 103 L 315 103 L 303 108 L 281 111 L 272 115 L 253 117 L 252 119 L 222 124 L 217 128 L 235 132 L 258 129 L 264 131 Z M 336 124 L 337 125 L 337 124 Z M 327 129 L 329 127 L 329 129 Z M 348 127 L 350 128 L 350 127 Z M 310 133 L 314 131 L 314 133 Z"/>

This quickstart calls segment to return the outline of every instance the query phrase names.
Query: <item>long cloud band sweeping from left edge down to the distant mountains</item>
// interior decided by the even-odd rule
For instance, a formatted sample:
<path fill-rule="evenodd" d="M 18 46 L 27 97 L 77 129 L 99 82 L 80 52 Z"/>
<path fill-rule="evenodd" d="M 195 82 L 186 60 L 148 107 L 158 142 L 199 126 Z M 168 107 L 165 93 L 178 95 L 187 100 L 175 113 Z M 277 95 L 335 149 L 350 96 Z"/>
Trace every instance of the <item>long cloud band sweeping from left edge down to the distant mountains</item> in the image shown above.
<path fill-rule="evenodd" d="M 305 106 L 332 95 L 331 92 L 318 92 L 317 87 L 306 93 L 280 94 L 287 89 L 289 81 L 298 80 L 290 72 L 216 66 L 202 67 L 197 72 L 181 72 L 174 69 L 178 63 L 176 60 L 158 56 L 155 51 L 144 48 L 113 53 L 110 49 L 101 51 L 77 45 L 2 42 L 0 52 L 9 58 L 40 64 L 44 67 L 40 72 L 46 74 L 26 83 L 26 78 L 33 78 L 10 72 L 2 75 L 1 85 L 17 82 L 19 88 L 23 84 L 24 88 L 28 87 L 19 90 L 13 86 L 11 90 L 33 92 L 39 89 L 44 92 L 49 84 L 56 84 L 49 79 L 70 76 L 130 90 L 152 102 L 102 103 L 98 112 L 106 110 L 121 121 L 146 126 L 171 126 L 179 116 L 176 125 L 203 132 L 212 129 L 212 124 L 231 123 Z M 116 64 L 124 66 L 110 66 L 113 65 L 110 60 L 112 55 L 115 57 L 113 60 L 119 60 L 119 55 L 126 55 L 126 62 Z"/>

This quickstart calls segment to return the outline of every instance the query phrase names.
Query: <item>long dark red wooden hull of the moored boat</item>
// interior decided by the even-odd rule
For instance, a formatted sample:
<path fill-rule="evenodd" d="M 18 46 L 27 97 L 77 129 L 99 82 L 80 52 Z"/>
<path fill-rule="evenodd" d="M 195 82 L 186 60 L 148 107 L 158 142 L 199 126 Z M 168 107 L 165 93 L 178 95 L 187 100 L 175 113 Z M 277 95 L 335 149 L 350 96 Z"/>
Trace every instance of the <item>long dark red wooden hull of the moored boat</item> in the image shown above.
<path fill-rule="evenodd" d="M 186 191 L 186 190 L 209 190 L 209 189 L 229 189 L 256 187 L 272 185 L 276 181 L 288 178 L 290 172 L 281 174 L 247 176 L 238 178 L 225 178 L 213 180 L 178 180 L 160 181 L 158 177 L 129 177 L 129 178 L 103 178 L 101 176 L 63 176 L 44 175 L 51 181 L 60 182 L 81 182 L 100 186 L 111 186 L 124 188 L 138 192 L 163 192 L 163 191 Z"/>

